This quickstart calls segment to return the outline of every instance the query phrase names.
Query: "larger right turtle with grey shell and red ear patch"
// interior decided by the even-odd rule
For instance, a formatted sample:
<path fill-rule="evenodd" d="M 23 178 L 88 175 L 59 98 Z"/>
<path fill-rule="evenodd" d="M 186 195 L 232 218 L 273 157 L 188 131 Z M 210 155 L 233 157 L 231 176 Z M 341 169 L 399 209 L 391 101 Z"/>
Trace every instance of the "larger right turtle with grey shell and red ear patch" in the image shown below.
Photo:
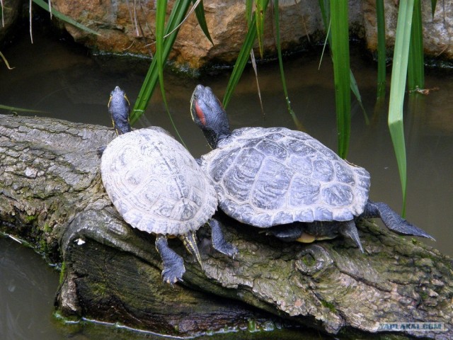
<path fill-rule="evenodd" d="M 343 234 L 360 250 L 358 217 L 381 217 L 394 232 L 432 238 L 385 203 L 369 200 L 368 171 L 306 133 L 287 128 L 231 132 L 221 103 L 202 85 L 193 92 L 190 111 L 213 149 L 200 163 L 214 181 L 219 207 L 239 222 L 301 242 Z"/>

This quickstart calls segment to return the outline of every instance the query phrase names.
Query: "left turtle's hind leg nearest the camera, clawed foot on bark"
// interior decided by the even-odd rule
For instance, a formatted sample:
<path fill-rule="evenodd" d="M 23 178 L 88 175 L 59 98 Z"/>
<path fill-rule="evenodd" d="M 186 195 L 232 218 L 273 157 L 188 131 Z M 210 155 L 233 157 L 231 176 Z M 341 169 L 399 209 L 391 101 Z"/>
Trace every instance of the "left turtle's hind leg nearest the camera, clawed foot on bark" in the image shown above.
<path fill-rule="evenodd" d="M 156 249 L 164 263 L 164 270 L 162 271 L 164 282 L 173 285 L 178 280 L 182 281 L 185 273 L 183 258 L 170 249 L 166 236 L 162 234 L 156 236 Z"/>

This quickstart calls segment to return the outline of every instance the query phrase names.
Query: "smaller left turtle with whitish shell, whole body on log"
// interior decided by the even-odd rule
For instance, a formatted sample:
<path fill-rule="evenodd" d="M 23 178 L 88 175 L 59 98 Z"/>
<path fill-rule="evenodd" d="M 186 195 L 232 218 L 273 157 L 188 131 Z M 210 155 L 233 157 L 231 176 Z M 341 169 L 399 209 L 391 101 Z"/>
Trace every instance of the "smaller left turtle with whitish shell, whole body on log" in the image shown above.
<path fill-rule="evenodd" d="M 188 150 L 162 128 L 132 130 L 130 103 L 118 86 L 110 93 L 108 111 L 117 137 L 102 151 L 103 186 L 125 222 L 156 234 L 164 282 L 176 283 L 185 273 L 167 237 L 182 239 L 202 266 L 195 232 L 206 222 L 214 249 L 236 255 L 236 246 L 225 241 L 219 222 L 211 218 L 218 204 L 213 183 Z"/>

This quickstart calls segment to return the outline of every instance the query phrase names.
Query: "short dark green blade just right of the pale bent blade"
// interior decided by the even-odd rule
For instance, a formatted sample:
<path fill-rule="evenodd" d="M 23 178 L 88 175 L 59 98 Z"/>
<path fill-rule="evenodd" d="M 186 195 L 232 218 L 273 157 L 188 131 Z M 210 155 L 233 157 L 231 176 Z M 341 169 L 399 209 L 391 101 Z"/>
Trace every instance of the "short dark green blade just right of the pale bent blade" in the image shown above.
<path fill-rule="evenodd" d="M 425 88 L 425 64 L 423 56 L 423 27 L 421 1 L 413 3 L 411 44 L 408 60 L 409 91 Z"/>

